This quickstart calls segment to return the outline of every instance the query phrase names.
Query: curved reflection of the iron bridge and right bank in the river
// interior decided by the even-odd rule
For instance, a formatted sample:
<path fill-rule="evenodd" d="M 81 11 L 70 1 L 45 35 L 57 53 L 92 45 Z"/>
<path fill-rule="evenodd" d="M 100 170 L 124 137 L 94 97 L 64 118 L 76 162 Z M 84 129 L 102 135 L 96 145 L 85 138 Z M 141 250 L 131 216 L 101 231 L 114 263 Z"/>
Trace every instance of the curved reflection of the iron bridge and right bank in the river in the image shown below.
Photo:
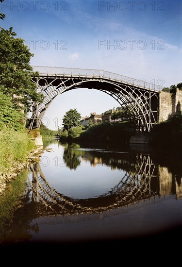
<path fill-rule="evenodd" d="M 99 151 L 77 149 L 68 152 L 68 149 L 68 147 L 65 148 L 64 160 L 70 168 L 76 168 L 73 161 L 68 160 L 74 158 L 78 164 L 81 161 L 87 161 L 92 167 L 101 164 L 110 166 L 111 169 L 122 169 L 124 175 L 114 188 L 96 198 L 73 199 L 57 192 L 49 184 L 42 172 L 40 162 L 32 163 L 30 164 L 32 180 L 29 178 L 29 183 L 33 192 L 32 201 L 37 203 L 39 216 L 97 213 L 154 196 L 176 194 L 177 199 L 182 196 L 181 179 L 174 177 L 166 167 L 153 163 L 149 154 L 122 154 L 111 151 L 108 157 L 108 153 L 99 153 Z M 68 162 L 71 162 L 71 166 Z"/>

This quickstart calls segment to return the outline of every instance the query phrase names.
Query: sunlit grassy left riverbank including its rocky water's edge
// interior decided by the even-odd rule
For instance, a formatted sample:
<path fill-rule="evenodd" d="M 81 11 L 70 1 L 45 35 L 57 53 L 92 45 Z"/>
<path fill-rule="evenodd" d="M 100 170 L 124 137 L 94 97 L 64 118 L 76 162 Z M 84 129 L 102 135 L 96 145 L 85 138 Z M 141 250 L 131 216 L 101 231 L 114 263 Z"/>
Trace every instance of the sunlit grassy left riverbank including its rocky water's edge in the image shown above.
<path fill-rule="evenodd" d="M 41 155 L 43 148 L 36 146 L 34 140 L 32 133 L 8 130 L 0 132 L 0 194 L 4 192 L 7 184 L 17 179 L 30 162 Z"/>

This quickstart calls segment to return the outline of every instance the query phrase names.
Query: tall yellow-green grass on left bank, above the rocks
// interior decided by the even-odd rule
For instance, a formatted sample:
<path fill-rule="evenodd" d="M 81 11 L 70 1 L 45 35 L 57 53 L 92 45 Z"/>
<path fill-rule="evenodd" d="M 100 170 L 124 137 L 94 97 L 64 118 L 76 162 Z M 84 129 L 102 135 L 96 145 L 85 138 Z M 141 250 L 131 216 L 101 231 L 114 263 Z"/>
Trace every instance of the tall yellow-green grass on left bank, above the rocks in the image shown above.
<path fill-rule="evenodd" d="M 26 132 L 3 129 L 0 131 L 0 170 L 10 167 L 12 162 L 25 162 L 33 150 L 34 143 Z"/>

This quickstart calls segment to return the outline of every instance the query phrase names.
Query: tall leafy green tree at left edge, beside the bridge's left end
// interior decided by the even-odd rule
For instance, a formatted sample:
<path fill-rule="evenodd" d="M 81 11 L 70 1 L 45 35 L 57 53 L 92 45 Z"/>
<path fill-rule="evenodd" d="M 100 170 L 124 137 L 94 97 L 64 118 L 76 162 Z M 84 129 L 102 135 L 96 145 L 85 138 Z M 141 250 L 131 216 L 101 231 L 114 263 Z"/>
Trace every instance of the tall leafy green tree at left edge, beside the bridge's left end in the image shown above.
<path fill-rule="evenodd" d="M 42 101 L 31 81 L 39 74 L 30 65 L 33 54 L 16 35 L 12 27 L 9 30 L 0 27 L 0 85 L 2 93 L 12 99 L 13 107 L 23 106 L 27 112 L 31 101 Z"/>

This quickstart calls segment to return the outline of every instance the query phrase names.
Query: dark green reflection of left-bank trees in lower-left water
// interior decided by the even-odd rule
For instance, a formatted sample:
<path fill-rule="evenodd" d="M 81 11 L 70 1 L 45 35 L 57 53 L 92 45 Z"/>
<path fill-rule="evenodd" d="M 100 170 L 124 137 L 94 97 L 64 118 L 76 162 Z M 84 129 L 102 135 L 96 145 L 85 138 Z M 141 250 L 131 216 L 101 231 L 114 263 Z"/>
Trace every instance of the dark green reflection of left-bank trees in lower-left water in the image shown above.
<path fill-rule="evenodd" d="M 8 191 L 4 196 L 6 205 L 4 205 L 4 207 L 2 206 L 2 208 L 4 212 L 6 212 L 7 222 L 9 224 L 6 226 L 3 225 L 2 229 L 0 228 L 2 244 L 14 242 L 14 240 L 18 240 L 19 242 L 27 241 L 32 238 L 33 232 L 38 232 L 37 224 L 32 223 L 33 218 L 37 217 L 37 206 L 30 202 L 32 188 L 29 188 L 29 190 L 23 194 L 26 179 L 27 172 L 24 172 L 17 180 L 13 181 L 11 184 L 12 190 Z M 3 197 L 1 197 L 1 201 L 3 201 Z M 11 215 L 9 213 L 11 213 Z"/>

